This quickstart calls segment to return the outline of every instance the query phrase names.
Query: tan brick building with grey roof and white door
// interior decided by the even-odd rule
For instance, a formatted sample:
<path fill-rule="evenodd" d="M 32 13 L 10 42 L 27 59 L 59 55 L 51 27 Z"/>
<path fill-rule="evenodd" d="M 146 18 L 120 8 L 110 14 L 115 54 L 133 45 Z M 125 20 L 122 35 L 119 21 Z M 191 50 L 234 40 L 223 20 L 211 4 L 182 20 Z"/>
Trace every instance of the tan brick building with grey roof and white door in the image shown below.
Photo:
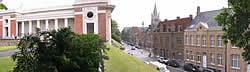
<path fill-rule="evenodd" d="M 249 72 L 241 55 L 243 50 L 231 45 L 230 41 L 223 43 L 222 28 L 216 25 L 213 18 L 219 12 L 200 12 L 200 8 L 197 8 L 197 16 L 184 32 L 185 63 L 216 72 Z"/>

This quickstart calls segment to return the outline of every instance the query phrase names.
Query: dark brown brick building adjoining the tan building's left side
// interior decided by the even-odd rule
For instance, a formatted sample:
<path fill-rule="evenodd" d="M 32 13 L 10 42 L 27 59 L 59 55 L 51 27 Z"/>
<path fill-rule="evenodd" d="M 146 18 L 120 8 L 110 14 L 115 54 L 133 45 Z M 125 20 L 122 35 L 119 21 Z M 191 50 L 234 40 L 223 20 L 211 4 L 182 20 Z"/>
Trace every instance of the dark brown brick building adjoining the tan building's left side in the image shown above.
<path fill-rule="evenodd" d="M 186 18 L 162 21 L 153 34 L 154 54 L 183 61 L 184 29 L 190 24 L 192 15 Z"/>

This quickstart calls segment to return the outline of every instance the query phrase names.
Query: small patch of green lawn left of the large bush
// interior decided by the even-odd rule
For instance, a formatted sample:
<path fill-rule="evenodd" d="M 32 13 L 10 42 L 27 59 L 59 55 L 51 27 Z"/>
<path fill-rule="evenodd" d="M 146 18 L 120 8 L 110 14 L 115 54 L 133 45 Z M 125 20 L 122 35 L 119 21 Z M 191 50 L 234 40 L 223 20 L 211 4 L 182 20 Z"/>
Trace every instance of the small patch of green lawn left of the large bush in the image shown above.
<path fill-rule="evenodd" d="M 15 62 L 13 62 L 10 56 L 0 57 L 0 72 L 11 71 L 14 66 L 15 66 Z"/>

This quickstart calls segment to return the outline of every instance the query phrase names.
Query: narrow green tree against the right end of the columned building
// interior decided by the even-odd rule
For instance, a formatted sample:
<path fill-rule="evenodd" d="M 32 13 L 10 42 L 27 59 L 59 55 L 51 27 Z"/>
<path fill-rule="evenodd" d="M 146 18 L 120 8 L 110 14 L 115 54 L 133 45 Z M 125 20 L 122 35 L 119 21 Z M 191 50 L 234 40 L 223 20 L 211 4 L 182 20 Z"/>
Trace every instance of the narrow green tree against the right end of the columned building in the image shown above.
<path fill-rule="evenodd" d="M 111 31 L 112 31 L 112 38 L 117 42 L 121 42 L 121 34 L 118 29 L 118 23 L 115 20 L 111 22 Z"/>

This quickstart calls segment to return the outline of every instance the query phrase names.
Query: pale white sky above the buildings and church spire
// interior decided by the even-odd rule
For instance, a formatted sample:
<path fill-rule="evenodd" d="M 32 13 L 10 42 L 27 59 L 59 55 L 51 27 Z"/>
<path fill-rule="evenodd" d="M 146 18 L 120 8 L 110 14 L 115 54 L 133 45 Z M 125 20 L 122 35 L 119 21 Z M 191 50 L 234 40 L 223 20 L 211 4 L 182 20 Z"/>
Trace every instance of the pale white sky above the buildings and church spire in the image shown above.
<path fill-rule="evenodd" d="M 9 9 L 34 9 L 51 6 L 71 5 L 75 0 L 3 0 Z M 151 14 L 156 4 L 160 19 L 172 20 L 177 16 L 195 17 L 197 6 L 201 12 L 218 10 L 227 7 L 227 0 L 111 0 L 115 5 L 112 19 L 116 20 L 119 29 L 124 27 L 147 27 L 151 23 Z"/>

